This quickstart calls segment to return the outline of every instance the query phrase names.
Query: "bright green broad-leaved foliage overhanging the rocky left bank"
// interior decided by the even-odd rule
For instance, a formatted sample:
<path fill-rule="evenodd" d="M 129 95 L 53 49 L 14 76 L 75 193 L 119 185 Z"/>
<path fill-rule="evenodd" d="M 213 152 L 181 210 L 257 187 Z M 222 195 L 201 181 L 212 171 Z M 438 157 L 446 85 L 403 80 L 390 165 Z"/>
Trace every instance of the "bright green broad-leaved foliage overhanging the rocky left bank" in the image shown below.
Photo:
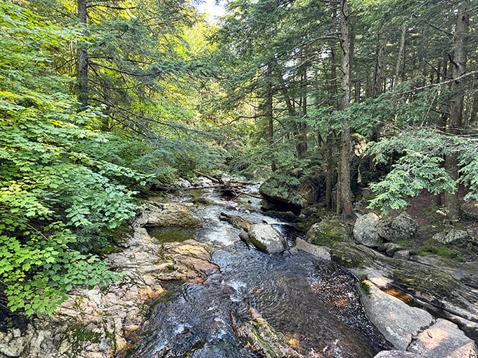
<path fill-rule="evenodd" d="M 120 277 L 81 250 L 95 245 L 98 230 L 135 215 L 122 178 L 147 179 L 81 150 L 117 138 L 97 130 L 100 110 L 75 112 L 68 79 L 53 72 L 48 48 L 72 34 L 0 4 L 0 281 L 8 307 L 26 314 L 53 312 L 74 284 Z"/>

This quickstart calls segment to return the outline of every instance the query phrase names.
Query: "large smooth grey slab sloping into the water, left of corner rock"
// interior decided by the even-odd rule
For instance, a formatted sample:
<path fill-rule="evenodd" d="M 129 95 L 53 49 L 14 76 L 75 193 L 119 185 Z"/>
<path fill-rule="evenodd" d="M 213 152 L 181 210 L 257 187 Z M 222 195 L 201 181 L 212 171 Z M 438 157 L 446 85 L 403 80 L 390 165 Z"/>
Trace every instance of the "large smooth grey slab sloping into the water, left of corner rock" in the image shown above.
<path fill-rule="evenodd" d="M 394 348 L 406 350 L 413 336 L 420 333 L 422 327 L 432 324 L 432 315 L 388 295 L 372 281 L 364 282 L 368 294 L 362 294 L 361 300 L 367 317 Z"/>

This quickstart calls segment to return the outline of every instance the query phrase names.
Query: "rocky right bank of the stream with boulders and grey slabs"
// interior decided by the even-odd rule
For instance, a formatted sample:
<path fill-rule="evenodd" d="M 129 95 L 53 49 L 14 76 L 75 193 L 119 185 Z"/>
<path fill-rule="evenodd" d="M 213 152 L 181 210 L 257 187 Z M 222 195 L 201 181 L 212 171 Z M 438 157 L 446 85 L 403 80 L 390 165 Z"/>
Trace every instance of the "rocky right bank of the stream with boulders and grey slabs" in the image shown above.
<path fill-rule="evenodd" d="M 392 251 L 396 237 L 417 232 L 406 215 L 379 220 L 370 213 L 354 227 L 333 221 L 316 223 L 307 233 L 308 241 L 322 246 L 298 239 L 296 248 L 335 260 L 361 278 L 358 289 L 367 316 L 394 347 L 377 357 L 478 357 L 472 339 L 478 337 L 477 263 L 411 258 L 399 245 Z"/>

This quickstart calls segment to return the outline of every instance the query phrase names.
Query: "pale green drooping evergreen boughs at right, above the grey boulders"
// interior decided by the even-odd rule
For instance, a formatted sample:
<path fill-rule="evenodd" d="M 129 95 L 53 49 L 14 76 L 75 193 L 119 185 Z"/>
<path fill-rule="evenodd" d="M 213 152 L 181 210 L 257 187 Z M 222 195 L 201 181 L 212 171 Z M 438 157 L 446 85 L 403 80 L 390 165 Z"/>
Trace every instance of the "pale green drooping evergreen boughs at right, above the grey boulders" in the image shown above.
<path fill-rule="evenodd" d="M 401 209 L 406 206 L 404 197 L 414 197 L 422 190 L 455 192 L 458 183 L 446 173 L 443 159 L 453 154 L 458 154 L 460 162 L 460 183 L 470 189 L 465 199 L 478 198 L 478 143 L 474 140 L 425 129 L 408 131 L 373 143 L 368 154 L 375 154 L 375 160 L 382 163 L 392 155 L 400 156 L 380 183 L 370 185 L 375 192 L 372 208 L 385 213 Z"/>

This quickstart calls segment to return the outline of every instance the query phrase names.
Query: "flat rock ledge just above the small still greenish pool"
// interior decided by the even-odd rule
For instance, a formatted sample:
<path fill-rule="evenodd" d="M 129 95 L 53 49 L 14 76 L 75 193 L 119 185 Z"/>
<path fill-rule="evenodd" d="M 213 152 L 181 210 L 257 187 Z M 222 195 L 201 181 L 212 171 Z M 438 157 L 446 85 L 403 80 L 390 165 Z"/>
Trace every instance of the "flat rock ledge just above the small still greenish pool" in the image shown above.
<path fill-rule="evenodd" d="M 135 223 L 141 227 L 185 227 L 195 228 L 201 226 L 198 217 L 190 212 L 187 206 L 180 203 L 160 203 L 146 201 L 144 210 L 136 218 Z"/>

